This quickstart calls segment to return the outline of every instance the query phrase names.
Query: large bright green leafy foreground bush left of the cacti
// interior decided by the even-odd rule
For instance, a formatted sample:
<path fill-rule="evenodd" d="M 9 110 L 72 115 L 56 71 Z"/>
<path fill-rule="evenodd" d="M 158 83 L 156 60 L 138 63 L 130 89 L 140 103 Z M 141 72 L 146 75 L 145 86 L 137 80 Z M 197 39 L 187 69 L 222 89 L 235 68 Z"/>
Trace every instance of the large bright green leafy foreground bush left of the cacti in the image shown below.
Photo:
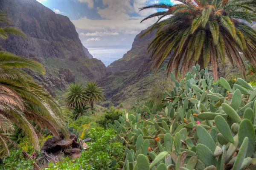
<path fill-rule="evenodd" d="M 64 158 L 57 164 L 50 163 L 47 170 L 108 170 L 115 167 L 111 167 L 113 159 L 117 162 L 123 159 L 124 146 L 116 141 L 116 132 L 113 129 L 96 127 L 88 134 L 92 142 L 89 149 L 81 153 L 80 158 Z"/>

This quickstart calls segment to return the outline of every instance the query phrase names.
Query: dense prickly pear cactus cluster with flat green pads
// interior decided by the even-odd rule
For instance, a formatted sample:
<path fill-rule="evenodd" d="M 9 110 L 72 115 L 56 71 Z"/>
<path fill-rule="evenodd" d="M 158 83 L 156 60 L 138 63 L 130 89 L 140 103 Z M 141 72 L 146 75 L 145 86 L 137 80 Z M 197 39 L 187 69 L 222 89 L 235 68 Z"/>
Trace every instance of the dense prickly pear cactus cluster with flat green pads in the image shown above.
<path fill-rule="evenodd" d="M 110 128 L 126 145 L 123 170 L 241 170 L 256 164 L 256 87 L 234 79 L 213 84 L 208 69 L 175 80 L 163 93 L 163 111 L 155 105 L 119 117 Z M 117 162 L 116 162 L 117 163 Z"/>

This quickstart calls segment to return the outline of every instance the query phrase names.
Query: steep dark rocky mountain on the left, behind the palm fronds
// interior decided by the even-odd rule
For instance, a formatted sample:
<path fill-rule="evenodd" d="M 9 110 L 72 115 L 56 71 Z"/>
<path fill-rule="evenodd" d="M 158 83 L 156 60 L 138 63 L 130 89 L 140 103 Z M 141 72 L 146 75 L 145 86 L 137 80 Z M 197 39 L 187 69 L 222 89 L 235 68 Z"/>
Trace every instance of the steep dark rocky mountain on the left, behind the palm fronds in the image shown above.
<path fill-rule="evenodd" d="M 91 59 L 68 17 L 55 14 L 36 0 L 0 0 L 0 11 L 8 14 L 13 26 L 26 34 L 26 38 L 10 36 L 0 40 L 0 50 L 43 64 L 45 75 L 30 74 L 51 94 L 72 82 L 105 76 L 105 65 Z"/>

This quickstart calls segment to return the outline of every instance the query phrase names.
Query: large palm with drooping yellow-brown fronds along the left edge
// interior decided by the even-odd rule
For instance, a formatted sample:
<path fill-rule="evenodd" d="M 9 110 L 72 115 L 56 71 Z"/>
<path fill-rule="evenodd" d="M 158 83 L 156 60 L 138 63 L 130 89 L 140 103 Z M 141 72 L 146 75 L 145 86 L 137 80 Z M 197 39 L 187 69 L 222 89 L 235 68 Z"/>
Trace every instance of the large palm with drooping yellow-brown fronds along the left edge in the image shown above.
<path fill-rule="evenodd" d="M 6 15 L 0 14 L 0 22 L 9 23 Z M 24 36 L 17 28 L 0 28 L 0 37 L 6 38 L 9 34 Z M 15 145 L 6 135 L 14 130 L 14 124 L 26 133 L 35 149 L 39 149 L 38 137 L 41 134 L 32 122 L 43 130 L 49 128 L 55 136 L 59 136 L 58 129 L 65 136 L 68 135 L 58 102 L 20 68 L 32 69 L 41 74 L 45 72 L 38 62 L 0 51 L 0 146 L 3 149 L 0 149 L 0 156 L 4 156 L 4 153 L 9 155 L 6 142 Z"/>

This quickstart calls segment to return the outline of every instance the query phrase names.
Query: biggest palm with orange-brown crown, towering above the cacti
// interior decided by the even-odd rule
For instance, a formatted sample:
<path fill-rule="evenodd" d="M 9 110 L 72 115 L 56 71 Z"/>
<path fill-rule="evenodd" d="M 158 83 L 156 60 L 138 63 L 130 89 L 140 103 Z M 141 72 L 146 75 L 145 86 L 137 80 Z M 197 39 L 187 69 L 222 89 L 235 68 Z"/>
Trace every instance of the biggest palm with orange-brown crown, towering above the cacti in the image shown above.
<path fill-rule="evenodd" d="M 224 65 L 226 57 L 238 66 L 245 77 L 242 56 L 256 66 L 256 30 L 247 25 L 256 21 L 255 0 L 177 0 L 179 4 L 158 3 L 140 10 L 161 8 L 150 16 L 157 22 L 142 35 L 157 29 L 157 35 L 148 46 L 152 68 L 157 71 L 163 60 L 172 54 L 167 66 L 168 76 L 179 66 L 183 76 L 197 62 L 201 68 L 212 65 L 217 79 L 217 59 Z M 144 21 L 142 20 L 142 22 Z M 172 52 L 173 51 L 173 52 Z"/>

